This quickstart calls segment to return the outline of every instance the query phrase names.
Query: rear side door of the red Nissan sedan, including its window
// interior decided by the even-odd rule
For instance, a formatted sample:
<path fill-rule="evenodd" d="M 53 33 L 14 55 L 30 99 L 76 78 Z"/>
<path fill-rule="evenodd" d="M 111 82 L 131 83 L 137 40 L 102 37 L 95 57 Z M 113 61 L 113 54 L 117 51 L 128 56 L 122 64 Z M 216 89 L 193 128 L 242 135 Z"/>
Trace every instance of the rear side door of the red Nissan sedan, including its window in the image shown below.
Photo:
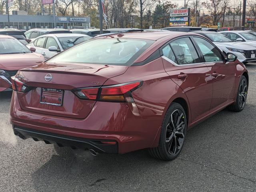
<path fill-rule="evenodd" d="M 185 92 L 191 109 L 191 121 L 209 113 L 212 102 L 212 76 L 201 63 L 191 39 L 182 37 L 162 48 L 163 64 L 170 78 Z"/>

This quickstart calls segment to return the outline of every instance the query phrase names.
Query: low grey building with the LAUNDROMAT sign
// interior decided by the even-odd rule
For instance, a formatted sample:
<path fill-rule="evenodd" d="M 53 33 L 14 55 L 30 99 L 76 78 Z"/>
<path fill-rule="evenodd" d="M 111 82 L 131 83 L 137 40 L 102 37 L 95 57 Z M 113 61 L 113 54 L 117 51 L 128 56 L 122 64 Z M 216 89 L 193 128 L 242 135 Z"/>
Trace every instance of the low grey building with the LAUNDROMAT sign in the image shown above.
<path fill-rule="evenodd" d="M 56 28 L 90 28 L 90 17 L 55 16 Z M 54 28 L 54 16 L 36 15 L 0 15 L 0 28 L 29 30 L 32 28 Z"/>

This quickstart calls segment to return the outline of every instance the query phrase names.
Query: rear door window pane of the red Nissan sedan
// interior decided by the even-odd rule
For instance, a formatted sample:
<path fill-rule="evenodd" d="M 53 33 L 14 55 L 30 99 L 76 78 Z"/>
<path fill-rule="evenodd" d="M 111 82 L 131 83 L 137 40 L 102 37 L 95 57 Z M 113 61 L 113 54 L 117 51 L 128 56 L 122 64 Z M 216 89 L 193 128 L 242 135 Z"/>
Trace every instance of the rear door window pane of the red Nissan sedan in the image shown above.
<path fill-rule="evenodd" d="M 180 38 L 170 43 L 180 65 L 199 63 L 200 59 L 190 38 Z"/>

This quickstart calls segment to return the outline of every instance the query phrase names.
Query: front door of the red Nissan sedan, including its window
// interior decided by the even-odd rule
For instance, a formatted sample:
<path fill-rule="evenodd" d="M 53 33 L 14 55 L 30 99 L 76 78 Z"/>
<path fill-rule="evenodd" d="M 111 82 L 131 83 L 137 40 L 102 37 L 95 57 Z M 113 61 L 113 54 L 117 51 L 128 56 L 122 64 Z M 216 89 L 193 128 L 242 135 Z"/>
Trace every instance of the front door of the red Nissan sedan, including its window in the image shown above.
<path fill-rule="evenodd" d="M 213 84 L 211 109 L 218 109 L 234 98 L 235 90 L 235 63 L 226 62 L 224 56 L 210 41 L 193 37 L 199 50 L 202 52 L 206 66 L 210 70 Z"/>

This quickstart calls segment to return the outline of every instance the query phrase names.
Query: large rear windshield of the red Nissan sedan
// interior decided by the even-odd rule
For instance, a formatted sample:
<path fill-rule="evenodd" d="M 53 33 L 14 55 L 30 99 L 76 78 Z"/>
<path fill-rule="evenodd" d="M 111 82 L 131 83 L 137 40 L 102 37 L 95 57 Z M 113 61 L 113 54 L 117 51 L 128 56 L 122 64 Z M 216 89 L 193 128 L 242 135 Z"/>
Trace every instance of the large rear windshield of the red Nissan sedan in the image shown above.
<path fill-rule="evenodd" d="M 92 39 L 57 54 L 48 62 L 130 66 L 153 42 L 132 38 Z"/>

